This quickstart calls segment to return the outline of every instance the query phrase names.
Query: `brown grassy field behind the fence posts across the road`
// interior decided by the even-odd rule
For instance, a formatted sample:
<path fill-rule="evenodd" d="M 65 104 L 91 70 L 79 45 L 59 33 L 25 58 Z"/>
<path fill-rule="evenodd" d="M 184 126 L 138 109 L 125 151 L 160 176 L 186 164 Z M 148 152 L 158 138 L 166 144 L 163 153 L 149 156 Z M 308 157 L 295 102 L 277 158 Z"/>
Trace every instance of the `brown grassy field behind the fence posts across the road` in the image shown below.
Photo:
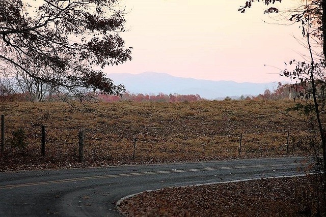
<path fill-rule="evenodd" d="M 303 122 L 284 114 L 293 105 L 292 101 L 254 100 L 2 103 L 5 151 L 0 154 L 0 171 L 307 154 L 301 141 L 312 133 Z M 42 125 L 46 126 L 44 157 Z M 25 148 L 13 142 L 18 129 L 26 136 Z M 85 131 L 82 163 L 78 162 L 80 130 Z"/>

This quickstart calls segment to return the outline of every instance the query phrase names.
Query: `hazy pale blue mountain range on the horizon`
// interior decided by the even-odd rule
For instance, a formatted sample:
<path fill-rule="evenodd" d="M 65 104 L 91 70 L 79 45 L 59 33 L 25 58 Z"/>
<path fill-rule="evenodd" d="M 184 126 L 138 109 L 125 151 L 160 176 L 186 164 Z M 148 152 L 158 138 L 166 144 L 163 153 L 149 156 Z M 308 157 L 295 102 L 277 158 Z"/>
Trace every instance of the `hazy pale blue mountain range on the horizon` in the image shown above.
<path fill-rule="evenodd" d="M 115 84 L 123 84 L 131 94 L 198 94 L 208 100 L 257 96 L 266 89 L 274 89 L 277 83 L 237 83 L 234 81 L 210 81 L 175 77 L 166 73 L 144 72 L 141 74 L 108 74 Z"/>

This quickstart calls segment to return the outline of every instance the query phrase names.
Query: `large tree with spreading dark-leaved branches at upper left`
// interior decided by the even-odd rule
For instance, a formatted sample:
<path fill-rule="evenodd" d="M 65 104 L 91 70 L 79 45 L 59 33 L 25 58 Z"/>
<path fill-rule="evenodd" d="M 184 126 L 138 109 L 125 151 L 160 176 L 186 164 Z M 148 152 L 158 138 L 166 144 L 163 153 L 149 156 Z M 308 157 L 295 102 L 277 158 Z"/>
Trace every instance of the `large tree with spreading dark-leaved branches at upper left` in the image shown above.
<path fill-rule="evenodd" d="M 119 95 L 124 86 L 93 68 L 131 60 L 119 36 L 124 23 L 119 0 L 0 1 L 1 69 L 18 69 L 51 91 Z"/>

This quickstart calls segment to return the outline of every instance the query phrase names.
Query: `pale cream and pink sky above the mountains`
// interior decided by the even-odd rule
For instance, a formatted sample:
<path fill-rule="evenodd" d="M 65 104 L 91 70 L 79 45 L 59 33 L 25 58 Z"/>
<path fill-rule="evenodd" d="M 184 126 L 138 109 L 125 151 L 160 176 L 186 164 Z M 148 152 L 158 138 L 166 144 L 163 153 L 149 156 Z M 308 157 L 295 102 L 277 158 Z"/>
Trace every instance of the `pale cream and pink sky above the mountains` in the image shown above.
<path fill-rule="evenodd" d="M 177 77 L 236 82 L 287 81 L 284 61 L 300 59 L 306 49 L 297 24 L 280 25 L 245 0 L 124 0 L 132 60 L 106 67 L 110 73 L 168 73 Z M 279 4 L 289 7 L 293 1 Z M 289 5 L 286 5 L 289 4 Z"/>

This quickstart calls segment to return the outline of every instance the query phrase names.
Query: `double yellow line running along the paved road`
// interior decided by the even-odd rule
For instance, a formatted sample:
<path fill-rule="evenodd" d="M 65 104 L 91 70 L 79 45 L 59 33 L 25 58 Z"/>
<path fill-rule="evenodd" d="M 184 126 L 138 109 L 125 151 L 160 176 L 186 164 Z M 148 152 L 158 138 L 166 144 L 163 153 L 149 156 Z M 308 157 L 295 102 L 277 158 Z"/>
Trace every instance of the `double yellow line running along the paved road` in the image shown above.
<path fill-rule="evenodd" d="M 276 167 L 276 166 L 290 166 L 291 164 L 268 164 L 268 165 L 253 165 L 253 166 L 233 166 L 233 167 L 212 167 L 212 168 L 198 168 L 198 169 L 183 169 L 183 170 L 167 170 L 167 171 L 153 171 L 153 172 L 140 172 L 140 173 L 123 173 L 117 175 L 99 175 L 99 176 L 87 176 L 87 177 L 79 177 L 79 178 L 68 178 L 68 179 L 60 179 L 53 181 L 41 181 L 41 182 L 31 182 L 31 183 L 23 183 L 23 184 L 12 184 L 5 185 L 0 187 L 2 189 L 13 189 L 19 187 L 30 187 L 35 185 L 42 184 L 55 184 L 55 183 L 65 183 L 65 182 L 73 182 L 73 181 L 85 181 L 90 179 L 101 179 L 101 178 L 117 178 L 117 177 L 129 177 L 129 176 L 138 176 L 138 175 L 153 175 L 153 174 L 166 174 L 166 173 L 181 173 L 181 172 L 197 172 L 197 171 L 209 171 L 209 170 L 224 170 L 224 169 L 241 169 L 241 168 L 259 168 L 259 167 Z"/>

